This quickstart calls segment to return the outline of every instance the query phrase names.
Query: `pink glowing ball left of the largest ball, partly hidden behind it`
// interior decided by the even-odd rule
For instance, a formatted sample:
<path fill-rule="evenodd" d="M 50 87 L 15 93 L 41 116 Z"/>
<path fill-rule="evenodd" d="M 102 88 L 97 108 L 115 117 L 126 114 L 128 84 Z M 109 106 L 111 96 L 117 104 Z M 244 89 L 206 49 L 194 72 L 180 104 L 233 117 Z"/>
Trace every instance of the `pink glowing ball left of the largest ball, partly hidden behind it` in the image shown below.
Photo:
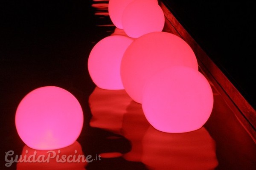
<path fill-rule="evenodd" d="M 123 54 L 133 42 L 131 38 L 114 35 L 99 41 L 90 52 L 88 70 L 93 82 L 108 90 L 124 89 L 120 76 Z"/>

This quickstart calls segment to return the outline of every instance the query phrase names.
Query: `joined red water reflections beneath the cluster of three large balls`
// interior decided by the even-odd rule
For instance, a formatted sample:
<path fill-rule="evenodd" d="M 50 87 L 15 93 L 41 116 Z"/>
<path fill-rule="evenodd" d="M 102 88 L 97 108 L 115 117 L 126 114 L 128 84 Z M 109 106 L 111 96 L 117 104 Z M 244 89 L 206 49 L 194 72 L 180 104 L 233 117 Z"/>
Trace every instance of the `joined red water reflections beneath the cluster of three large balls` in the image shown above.
<path fill-rule="evenodd" d="M 149 125 L 141 105 L 124 90 L 95 88 L 89 104 L 91 126 L 131 142 L 131 151 L 122 156 L 128 161 L 141 161 L 155 170 L 212 170 L 218 165 L 215 141 L 204 127 L 189 133 L 160 132 Z"/>

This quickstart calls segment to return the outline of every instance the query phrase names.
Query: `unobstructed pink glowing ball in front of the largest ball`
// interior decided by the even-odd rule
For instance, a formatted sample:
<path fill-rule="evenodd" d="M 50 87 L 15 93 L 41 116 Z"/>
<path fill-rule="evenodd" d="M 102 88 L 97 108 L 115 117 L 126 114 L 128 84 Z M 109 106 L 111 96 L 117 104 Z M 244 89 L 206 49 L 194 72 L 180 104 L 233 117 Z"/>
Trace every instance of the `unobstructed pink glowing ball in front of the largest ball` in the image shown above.
<path fill-rule="evenodd" d="M 157 130 L 169 133 L 197 130 L 212 112 L 212 89 L 195 69 L 166 68 L 145 84 L 142 107 L 148 122 Z"/>

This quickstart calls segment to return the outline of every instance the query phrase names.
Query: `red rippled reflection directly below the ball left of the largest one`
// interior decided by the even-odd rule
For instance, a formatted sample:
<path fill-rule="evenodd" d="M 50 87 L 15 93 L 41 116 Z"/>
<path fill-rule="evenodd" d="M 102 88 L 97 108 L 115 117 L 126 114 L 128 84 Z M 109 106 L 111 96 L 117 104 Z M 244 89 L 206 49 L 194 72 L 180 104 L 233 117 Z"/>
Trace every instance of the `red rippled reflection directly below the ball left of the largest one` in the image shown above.
<path fill-rule="evenodd" d="M 90 126 L 121 134 L 123 116 L 131 101 L 125 90 L 104 90 L 96 87 L 89 97 L 92 113 Z"/>

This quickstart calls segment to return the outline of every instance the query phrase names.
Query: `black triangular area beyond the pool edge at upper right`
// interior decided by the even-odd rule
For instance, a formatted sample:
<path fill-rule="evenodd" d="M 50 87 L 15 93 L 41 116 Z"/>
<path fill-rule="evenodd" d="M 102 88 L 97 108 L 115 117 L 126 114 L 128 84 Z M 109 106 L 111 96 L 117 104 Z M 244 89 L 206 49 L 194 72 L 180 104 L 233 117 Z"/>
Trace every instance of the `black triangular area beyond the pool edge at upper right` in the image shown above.
<path fill-rule="evenodd" d="M 255 1 L 162 1 L 256 108 Z"/>

